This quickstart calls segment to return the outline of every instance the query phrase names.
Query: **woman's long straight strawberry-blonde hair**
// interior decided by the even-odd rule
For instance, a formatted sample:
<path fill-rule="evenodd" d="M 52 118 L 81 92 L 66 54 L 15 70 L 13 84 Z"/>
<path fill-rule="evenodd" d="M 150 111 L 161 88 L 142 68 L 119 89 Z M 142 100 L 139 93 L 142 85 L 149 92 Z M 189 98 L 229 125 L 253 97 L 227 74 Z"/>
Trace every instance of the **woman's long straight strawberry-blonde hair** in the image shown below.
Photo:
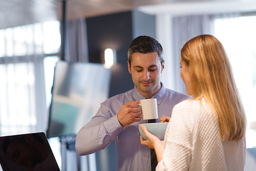
<path fill-rule="evenodd" d="M 222 140 L 245 137 L 246 116 L 221 42 L 199 35 L 186 42 L 181 59 L 189 66 L 194 99 L 204 98 L 218 115 Z"/>

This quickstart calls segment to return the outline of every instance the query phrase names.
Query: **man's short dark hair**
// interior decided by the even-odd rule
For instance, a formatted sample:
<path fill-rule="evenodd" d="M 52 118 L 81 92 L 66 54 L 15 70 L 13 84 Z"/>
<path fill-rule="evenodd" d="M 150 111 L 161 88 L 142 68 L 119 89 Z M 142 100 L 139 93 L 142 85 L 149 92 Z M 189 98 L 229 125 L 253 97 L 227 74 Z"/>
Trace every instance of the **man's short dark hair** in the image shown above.
<path fill-rule="evenodd" d="M 131 66 L 131 57 L 132 54 L 135 52 L 139 53 L 150 53 L 150 52 L 157 52 L 158 57 L 160 57 L 161 65 L 163 63 L 163 48 L 159 44 L 159 42 L 150 37 L 150 36 L 139 36 L 131 42 L 128 50 L 128 62 Z"/>

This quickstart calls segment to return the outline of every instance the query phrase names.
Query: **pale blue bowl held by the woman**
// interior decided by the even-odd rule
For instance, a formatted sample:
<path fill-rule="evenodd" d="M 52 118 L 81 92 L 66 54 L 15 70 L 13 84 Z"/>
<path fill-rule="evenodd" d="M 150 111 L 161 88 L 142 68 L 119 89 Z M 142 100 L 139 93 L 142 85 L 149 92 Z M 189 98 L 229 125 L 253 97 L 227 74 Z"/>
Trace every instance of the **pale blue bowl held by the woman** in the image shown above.
<path fill-rule="evenodd" d="M 147 140 L 144 132 L 141 130 L 140 125 L 144 125 L 147 131 L 151 134 L 157 136 L 161 141 L 163 141 L 165 130 L 168 123 L 141 123 L 139 124 L 139 132 L 144 140 Z"/>

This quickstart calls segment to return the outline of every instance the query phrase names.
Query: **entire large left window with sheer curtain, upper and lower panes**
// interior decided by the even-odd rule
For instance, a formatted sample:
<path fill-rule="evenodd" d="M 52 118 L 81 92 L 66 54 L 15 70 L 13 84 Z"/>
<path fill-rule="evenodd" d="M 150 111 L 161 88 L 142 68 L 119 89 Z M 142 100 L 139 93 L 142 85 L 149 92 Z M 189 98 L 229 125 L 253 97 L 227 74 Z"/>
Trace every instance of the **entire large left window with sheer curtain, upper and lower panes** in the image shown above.
<path fill-rule="evenodd" d="M 46 132 L 59 29 L 51 21 L 0 30 L 1 136 Z"/>

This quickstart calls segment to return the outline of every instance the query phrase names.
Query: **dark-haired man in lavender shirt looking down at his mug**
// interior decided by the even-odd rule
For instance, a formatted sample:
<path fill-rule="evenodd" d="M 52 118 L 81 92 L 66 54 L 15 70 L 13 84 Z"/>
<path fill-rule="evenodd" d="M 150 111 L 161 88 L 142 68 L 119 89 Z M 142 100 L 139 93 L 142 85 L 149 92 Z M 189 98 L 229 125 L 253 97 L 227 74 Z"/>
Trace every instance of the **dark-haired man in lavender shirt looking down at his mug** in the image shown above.
<path fill-rule="evenodd" d="M 164 69 L 163 49 L 157 40 L 148 36 L 135 38 L 129 47 L 128 70 L 135 87 L 101 103 L 92 120 L 76 137 L 78 155 L 89 155 L 104 149 L 115 140 L 118 170 L 151 170 L 150 149 L 140 144 L 138 124 L 141 120 L 139 100 L 157 98 L 160 122 L 162 115 L 170 117 L 174 105 L 189 98 L 166 89 L 160 82 Z"/>

